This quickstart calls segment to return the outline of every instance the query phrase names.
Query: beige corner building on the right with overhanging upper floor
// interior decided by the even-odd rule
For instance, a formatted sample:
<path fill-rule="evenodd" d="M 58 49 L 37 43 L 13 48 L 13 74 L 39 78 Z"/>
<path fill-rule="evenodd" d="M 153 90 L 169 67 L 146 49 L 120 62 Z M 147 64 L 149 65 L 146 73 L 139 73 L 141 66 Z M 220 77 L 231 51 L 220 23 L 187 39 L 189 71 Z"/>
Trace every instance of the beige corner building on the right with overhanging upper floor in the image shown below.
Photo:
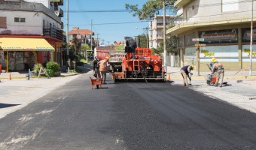
<path fill-rule="evenodd" d="M 250 61 L 250 37 L 253 1 L 178 0 L 182 23 L 166 34 L 178 35 L 180 66 L 195 65 L 198 71 L 209 71 L 212 57 L 224 64 L 226 71 L 256 69 L 255 45 Z M 254 14 L 256 13 L 253 10 Z M 195 41 L 197 40 L 197 41 Z M 253 42 L 256 28 L 253 28 Z M 197 46 L 196 46 L 197 44 Z"/>

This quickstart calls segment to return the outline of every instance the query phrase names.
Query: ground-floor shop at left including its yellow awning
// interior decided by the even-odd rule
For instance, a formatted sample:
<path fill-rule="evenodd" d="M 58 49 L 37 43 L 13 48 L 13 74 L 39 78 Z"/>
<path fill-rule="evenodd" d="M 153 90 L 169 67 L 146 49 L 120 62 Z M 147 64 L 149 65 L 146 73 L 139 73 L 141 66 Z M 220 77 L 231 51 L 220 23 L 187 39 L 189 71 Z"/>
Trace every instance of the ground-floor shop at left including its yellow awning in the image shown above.
<path fill-rule="evenodd" d="M 2 70 L 32 70 L 35 63 L 38 62 L 39 52 L 47 54 L 53 51 L 53 46 L 43 38 L 0 37 L 0 65 L 2 65 Z"/>

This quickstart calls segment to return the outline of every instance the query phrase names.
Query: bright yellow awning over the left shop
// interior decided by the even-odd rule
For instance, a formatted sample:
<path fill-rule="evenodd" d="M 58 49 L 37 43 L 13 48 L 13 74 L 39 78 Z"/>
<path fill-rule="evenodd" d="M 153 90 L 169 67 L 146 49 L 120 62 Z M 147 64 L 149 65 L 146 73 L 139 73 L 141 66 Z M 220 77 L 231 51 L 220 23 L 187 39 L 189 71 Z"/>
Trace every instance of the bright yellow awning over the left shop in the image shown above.
<path fill-rule="evenodd" d="M 53 51 L 44 38 L 0 37 L 0 49 L 5 51 Z"/>

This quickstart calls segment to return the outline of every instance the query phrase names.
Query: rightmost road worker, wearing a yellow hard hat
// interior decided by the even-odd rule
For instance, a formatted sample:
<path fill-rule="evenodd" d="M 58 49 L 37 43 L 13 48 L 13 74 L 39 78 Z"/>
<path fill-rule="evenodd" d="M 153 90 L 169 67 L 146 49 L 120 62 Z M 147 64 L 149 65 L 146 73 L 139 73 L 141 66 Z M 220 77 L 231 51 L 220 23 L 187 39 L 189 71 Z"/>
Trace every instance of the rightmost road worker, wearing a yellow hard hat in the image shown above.
<path fill-rule="evenodd" d="M 217 77 L 217 80 L 214 84 L 214 86 L 218 86 L 218 81 L 221 78 L 221 83 L 220 83 L 220 87 L 222 87 L 223 84 L 223 78 L 224 78 L 224 68 L 223 65 L 221 63 L 215 63 L 212 66 L 212 75 L 215 74 L 215 76 Z"/>

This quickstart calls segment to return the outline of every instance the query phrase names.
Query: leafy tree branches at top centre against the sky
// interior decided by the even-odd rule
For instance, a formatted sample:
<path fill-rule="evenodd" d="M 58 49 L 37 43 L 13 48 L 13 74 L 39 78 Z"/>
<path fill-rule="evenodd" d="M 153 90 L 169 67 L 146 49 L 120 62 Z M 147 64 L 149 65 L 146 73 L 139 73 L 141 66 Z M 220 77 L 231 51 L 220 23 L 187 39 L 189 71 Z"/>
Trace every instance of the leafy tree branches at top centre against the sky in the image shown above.
<path fill-rule="evenodd" d="M 177 0 L 166 0 L 166 8 L 170 11 L 175 10 L 173 4 Z M 133 13 L 133 17 L 139 17 L 139 20 L 151 20 L 155 14 L 159 14 L 160 10 L 163 9 L 163 0 L 148 0 L 139 10 L 139 5 L 126 4 L 126 10 L 130 10 Z"/>

